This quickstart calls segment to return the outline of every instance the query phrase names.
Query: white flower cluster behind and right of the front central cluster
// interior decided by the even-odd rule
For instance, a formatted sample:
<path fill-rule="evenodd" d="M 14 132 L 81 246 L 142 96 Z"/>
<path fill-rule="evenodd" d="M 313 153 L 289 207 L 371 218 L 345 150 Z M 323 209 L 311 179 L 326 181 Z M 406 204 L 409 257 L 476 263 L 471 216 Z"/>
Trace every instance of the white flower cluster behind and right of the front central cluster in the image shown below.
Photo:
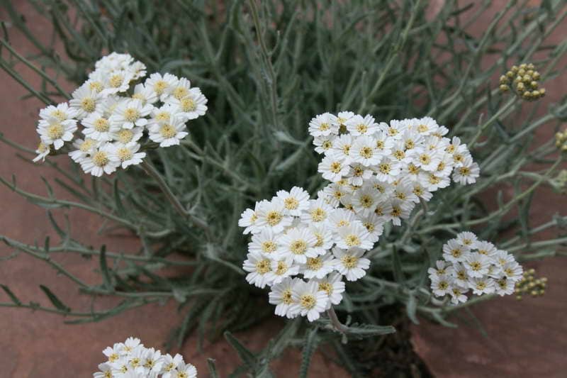
<path fill-rule="evenodd" d="M 479 169 L 461 140 L 434 119 L 376 123 L 372 116 L 324 113 L 309 123 L 319 172 L 329 184 L 320 196 L 352 209 L 364 221 L 400 226 L 420 199 L 451 184 L 476 182 Z"/>

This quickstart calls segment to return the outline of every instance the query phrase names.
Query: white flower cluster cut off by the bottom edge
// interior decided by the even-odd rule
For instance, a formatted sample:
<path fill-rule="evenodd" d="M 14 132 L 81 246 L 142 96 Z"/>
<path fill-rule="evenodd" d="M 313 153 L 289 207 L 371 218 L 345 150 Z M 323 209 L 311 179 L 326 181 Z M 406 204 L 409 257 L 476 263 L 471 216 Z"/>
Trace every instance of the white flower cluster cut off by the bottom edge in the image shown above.
<path fill-rule="evenodd" d="M 108 360 L 99 365 L 94 378 L 196 378 L 197 369 L 183 357 L 162 355 L 154 348 L 145 348 L 140 339 L 128 338 L 103 350 Z"/>

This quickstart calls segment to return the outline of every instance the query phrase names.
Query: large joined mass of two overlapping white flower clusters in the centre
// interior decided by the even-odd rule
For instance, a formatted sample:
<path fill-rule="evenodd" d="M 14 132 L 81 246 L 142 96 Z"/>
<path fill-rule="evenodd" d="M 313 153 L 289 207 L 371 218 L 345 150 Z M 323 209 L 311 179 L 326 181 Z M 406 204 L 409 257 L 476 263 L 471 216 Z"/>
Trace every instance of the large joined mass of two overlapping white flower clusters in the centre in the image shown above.
<path fill-rule="evenodd" d="M 276 315 L 309 321 L 342 301 L 343 279 L 366 274 L 368 250 L 392 221 L 400 226 L 416 203 L 478 177 L 466 145 L 444 138 L 432 118 L 376 123 L 351 112 L 313 118 L 309 131 L 319 165 L 331 183 L 310 199 L 293 187 L 242 213 L 239 226 L 252 234 L 243 268 L 247 281 L 271 287 Z"/>

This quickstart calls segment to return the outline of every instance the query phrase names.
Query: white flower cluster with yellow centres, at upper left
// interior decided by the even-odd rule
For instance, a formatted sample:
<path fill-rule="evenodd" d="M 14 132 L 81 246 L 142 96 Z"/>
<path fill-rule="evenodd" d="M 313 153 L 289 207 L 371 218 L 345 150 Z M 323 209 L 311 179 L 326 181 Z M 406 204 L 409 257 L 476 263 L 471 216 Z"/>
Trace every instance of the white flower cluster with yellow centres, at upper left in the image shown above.
<path fill-rule="evenodd" d="M 140 82 L 145 76 L 145 65 L 128 54 L 101 58 L 68 103 L 40 111 L 34 161 L 67 144 L 64 150 L 84 172 L 101 176 L 140 164 L 147 141 L 179 145 L 188 135 L 186 123 L 206 113 L 207 99 L 184 77 L 154 73 Z"/>

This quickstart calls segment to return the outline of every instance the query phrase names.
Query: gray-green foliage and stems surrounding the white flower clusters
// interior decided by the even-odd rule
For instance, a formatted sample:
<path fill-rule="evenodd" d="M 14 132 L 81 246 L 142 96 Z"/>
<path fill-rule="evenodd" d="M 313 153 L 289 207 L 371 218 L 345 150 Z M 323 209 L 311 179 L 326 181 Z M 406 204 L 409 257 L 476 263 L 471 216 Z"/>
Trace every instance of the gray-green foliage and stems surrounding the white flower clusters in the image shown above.
<path fill-rule="evenodd" d="M 258 323 L 273 308 L 266 304 L 265 291 L 245 282 L 240 265 L 247 240 L 237 220 L 243 209 L 271 198 L 278 189 L 298 185 L 315 193 L 325 184 L 307 133 L 310 118 L 324 111 L 371 113 L 380 121 L 430 115 L 449 127 L 451 135 L 469 145 L 473 141 L 473 156 L 481 165 L 476 185 L 443 189 L 403 227 L 386 228 L 371 252 L 371 271 L 348 285 L 348 295 L 337 307 L 339 316 L 348 313 L 353 321 L 366 323 L 352 326 L 350 338 L 389 333 L 389 328 L 376 327 L 383 323 L 386 308 L 399 308 L 394 313 L 414 322 L 420 315 L 450 326 L 447 315 L 459 307 L 431 304 L 426 271 L 444 240 L 459 230 L 474 229 L 480 238 L 496 240 L 503 230 L 515 229 L 499 244 L 520 260 L 554 255 L 567 241 L 559 235 L 532 242 L 542 230 L 563 228 L 566 220 L 550 214 L 548 223 L 534 225 L 529 217 L 534 189 L 553 183 L 557 165 L 549 166 L 558 161 L 553 140 L 535 149 L 529 146 L 537 128 L 559 127 L 565 121 L 567 101 L 540 109 L 541 101 L 526 104 L 512 94 L 500 94 L 494 79 L 520 62 L 534 62 L 544 82 L 561 74 L 558 62 L 567 41 L 546 42 L 565 22 L 561 0 L 543 1 L 541 7 L 510 1 L 480 35 L 471 33 L 471 26 L 486 19 L 490 1 L 447 1 L 429 18 L 426 1 L 410 0 L 34 1 L 52 21 L 53 40 L 64 43 L 64 56 L 30 33 L 11 1 L 2 3 L 9 19 L 0 64 L 45 103 L 64 101 L 55 74 L 82 83 L 94 62 L 113 50 L 132 54 L 148 72 L 188 77 L 209 99 L 207 115 L 191 123 L 191 135 L 179 148 L 150 152 L 152 164 L 188 207 L 189 217 L 179 216 L 155 181 L 135 167 L 91 180 L 77 169 L 57 167 L 57 160 L 65 157 L 50 157 L 48 165 L 62 174 L 55 184 L 74 201 L 55 198 L 47 182 L 47 194 L 40 195 L 24 191 L 15 179 L 1 179 L 48 212 L 72 207 L 91 211 L 101 216 L 103 230 L 125 228 L 142 245 L 131 255 L 91 248 L 72 238 L 74 225 L 57 224 L 49 213 L 60 244 L 46 240 L 43 246 L 24 245 L 0 238 L 14 250 L 45 260 L 84 294 L 121 296 L 123 301 L 106 311 L 76 310 L 41 287 L 52 304 L 44 307 L 18 299 L 6 282 L 2 289 L 9 301 L 3 306 L 64 313 L 77 323 L 172 299 L 185 316 L 176 332 L 179 343 L 193 330 L 202 340 L 206 334 Z M 25 34 L 38 54 L 18 55 L 18 46 L 9 42 L 11 33 Z M 43 78 L 40 88 L 31 87 L 13 69 L 18 61 L 36 67 Z M 534 162 L 543 169 L 527 172 Z M 498 189 L 504 185 L 512 187 L 512 198 Z M 495 192 L 498 206 L 491 209 L 485 199 Z M 504 218 L 513 211 L 517 216 Z M 92 286 L 67 272 L 57 262 L 60 252 L 96 257 L 101 283 Z M 173 252 L 185 258 L 171 260 Z M 169 266 L 189 267 L 191 272 L 165 278 L 159 269 Z M 245 362 L 239 371 L 271 374 L 269 360 L 301 340 L 306 345 L 302 374 L 313 349 L 330 341 L 344 365 L 357 369 L 356 363 L 344 360 L 350 357 L 348 348 L 337 342 L 341 335 L 327 330 L 325 321 L 315 326 L 318 330 L 301 328 L 302 336 L 291 322 L 260 355 L 242 349 L 232 334 L 226 338 Z"/>

